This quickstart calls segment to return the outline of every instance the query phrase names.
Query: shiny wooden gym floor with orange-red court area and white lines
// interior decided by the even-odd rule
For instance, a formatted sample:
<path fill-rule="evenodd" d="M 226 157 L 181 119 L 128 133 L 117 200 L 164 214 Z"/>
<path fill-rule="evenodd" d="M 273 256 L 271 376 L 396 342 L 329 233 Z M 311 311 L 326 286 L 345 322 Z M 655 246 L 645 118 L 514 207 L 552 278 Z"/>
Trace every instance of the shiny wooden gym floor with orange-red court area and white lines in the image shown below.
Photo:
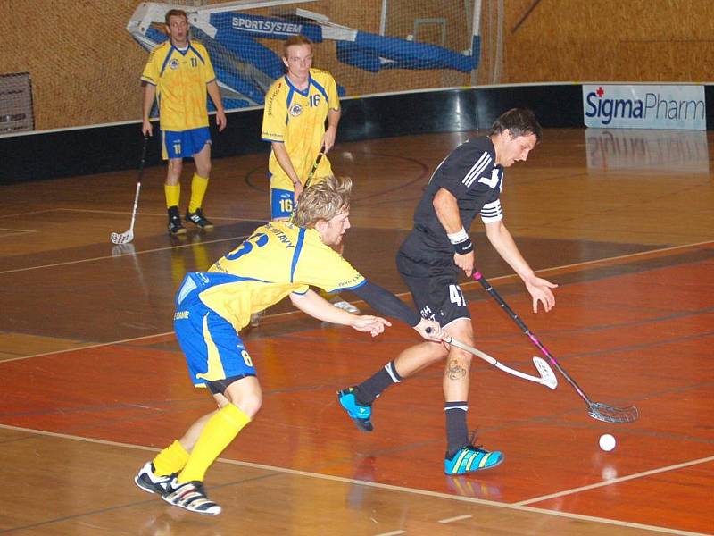
<path fill-rule="evenodd" d="M 345 256 L 404 299 L 395 250 L 431 170 L 468 136 L 345 143 L 329 155 L 355 180 Z M 394 325 L 372 340 L 281 304 L 245 333 L 265 399 L 207 475 L 218 517 L 169 507 L 132 478 L 212 409 L 171 332 L 173 295 L 185 272 L 268 217 L 266 155 L 214 161 L 205 209 L 216 228 L 183 239 L 165 231 L 164 169 L 147 169 L 125 247 L 109 235 L 129 226 L 136 172 L 0 187 L 0 532 L 714 533 L 712 141 L 546 130 L 507 170 L 505 221 L 560 284 L 550 314 L 530 312 L 483 227 L 472 229 L 478 267 L 531 330 L 591 398 L 634 404 L 639 421 L 594 421 L 562 378 L 545 389 L 475 360 L 469 424 L 506 460 L 446 477 L 440 365 L 387 390 L 371 434 L 336 402 L 336 389 L 417 335 Z M 477 346 L 532 369 L 536 348 L 477 283 L 463 288 Z M 602 433 L 617 448 L 600 450 Z"/>

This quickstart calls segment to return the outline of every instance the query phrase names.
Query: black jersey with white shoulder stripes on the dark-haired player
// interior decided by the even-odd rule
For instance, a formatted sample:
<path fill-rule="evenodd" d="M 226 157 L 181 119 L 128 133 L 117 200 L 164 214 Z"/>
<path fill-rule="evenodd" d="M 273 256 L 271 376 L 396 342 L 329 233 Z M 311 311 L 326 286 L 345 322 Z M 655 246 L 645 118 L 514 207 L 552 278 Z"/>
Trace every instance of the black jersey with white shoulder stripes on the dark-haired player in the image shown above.
<path fill-rule="evenodd" d="M 453 256 L 453 246 L 436 217 L 434 196 L 445 188 L 456 197 L 461 223 L 469 230 L 477 214 L 484 222 L 502 219 L 503 168 L 495 165 L 495 149 L 490 138 L 472 138 L 456 147 L 439 164 L 414 212 L 414 229 L 401 251 L 414 260 L 436 260 Z"/>

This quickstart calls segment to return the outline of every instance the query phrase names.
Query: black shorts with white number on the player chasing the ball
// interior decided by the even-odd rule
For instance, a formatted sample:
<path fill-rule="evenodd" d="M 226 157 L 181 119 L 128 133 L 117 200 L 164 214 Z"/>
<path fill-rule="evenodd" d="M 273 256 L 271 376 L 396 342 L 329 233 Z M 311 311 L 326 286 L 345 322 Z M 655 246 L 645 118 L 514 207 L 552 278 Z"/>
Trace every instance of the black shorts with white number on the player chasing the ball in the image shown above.
<path fill-rule="evenodd" d="M 425 263 L 400 250 L 396 267 L 422 318 L 436 320 L 442 327 L 460 318 L 471 318 L 466 297 L 456 280 L 459 269 L 452 258 L 435 258 Z"/>

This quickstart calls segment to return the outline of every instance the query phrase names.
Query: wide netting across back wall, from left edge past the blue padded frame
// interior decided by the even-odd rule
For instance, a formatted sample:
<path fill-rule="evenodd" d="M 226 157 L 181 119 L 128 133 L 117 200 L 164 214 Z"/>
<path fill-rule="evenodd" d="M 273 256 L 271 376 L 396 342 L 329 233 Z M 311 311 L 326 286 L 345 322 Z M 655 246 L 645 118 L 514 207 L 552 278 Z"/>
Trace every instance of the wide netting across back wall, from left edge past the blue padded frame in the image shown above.
<path fill-rule="evenodd" d="M 0 57 L 8 87 L 0 91 L 0 136 L 140 119 L 139 77 L 148 51 L 167 39 L 171 8 L 188 13 L 229 110 L 263 104 L 285 72 L 283 41 L 295 34 L 315 43 L 313 64 L 333 74 L 341 96 L 497 83 L 497 69 L 486 73 L 480 63 L 498 62 L 493 6 L 502 1 L 7 0 L 18 21 L 6 26 Z M 38 9 L 58 16 L 37 17 Z"/>

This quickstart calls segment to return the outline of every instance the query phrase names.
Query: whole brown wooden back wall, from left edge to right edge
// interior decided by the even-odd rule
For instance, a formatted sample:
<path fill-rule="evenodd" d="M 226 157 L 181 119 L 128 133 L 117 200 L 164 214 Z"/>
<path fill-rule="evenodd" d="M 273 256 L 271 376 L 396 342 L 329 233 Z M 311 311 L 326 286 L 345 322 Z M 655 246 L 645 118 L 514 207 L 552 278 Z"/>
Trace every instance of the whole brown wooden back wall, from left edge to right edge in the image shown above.
<path fill-rule="evenodd" d="M 468 43 L 452 38 L 462 37 L 467 21 L 448 14 L 448 4 L 461 5 L 461 0 L 392 0 L 390 24 L 402 20 L 409 26 L 414 17 L 428 17 L 432 1 L 449 26 L 447 44 L 466 48 Z M 541 0 L 512 32 L 533 2 L 503 3 L 503 83 L 710 80 L 714 3 L 708 0 Z M 484 50 L 477 78 L 482 84 L 493 71 L 498 3 L 483 3 Z M 125 29 L 137 4 L 137 0 L 0 3 L 4 46 L 0 74 L 30 72 L 37 130 L 140 118 L 138 77 L 146 53 Z M 301 7 L 378 33 L 381 4 L 381 0 L 320 0 Z M 421 37 L 438 40 L 435 31 L 425 29 Z M 277 51 L 281 46 L 278 41 L 263 42 Z M 332 42 L 317 46 L 315 64 L 331 71 L 352 96 L 470 83 L 469 75 L 455 71 L 394 70 L 366 84 L 355 76 L 356 69 L 337 62 Z"/>

